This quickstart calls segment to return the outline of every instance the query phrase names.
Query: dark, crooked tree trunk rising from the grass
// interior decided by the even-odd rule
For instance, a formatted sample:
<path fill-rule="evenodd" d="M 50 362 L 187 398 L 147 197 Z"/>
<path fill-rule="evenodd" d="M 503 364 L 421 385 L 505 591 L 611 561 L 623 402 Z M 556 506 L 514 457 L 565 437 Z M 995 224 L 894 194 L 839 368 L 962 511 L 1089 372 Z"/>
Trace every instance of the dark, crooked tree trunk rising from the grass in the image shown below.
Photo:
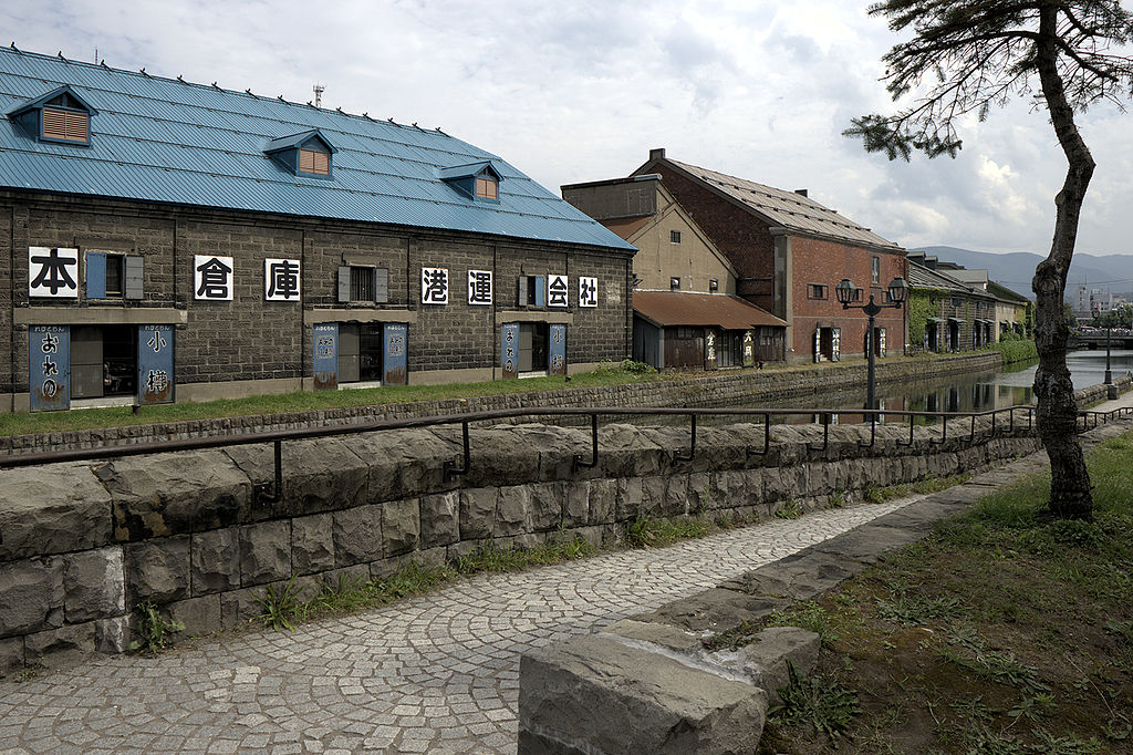
<path fill-rule="evenodd" d="M 1036 295 L 1034 343 L 1039 366 L 1034 372 L 1034 393 L 1039 399 L 1038 431 L 1050 457 L 1050 510 L 1064 519 L 1092 519 L 1093 497 L 1090 473 L 1082 446 L 1077 442 L 1077 405 L 1074 385 L 1066 368 L 1066 339 L 1070 326 L 1063 308 L 1066 273 L 1070 271 L 1085 189 L 1093 176 L 1090 150 L 1074 124 L 1074 111 L 1066 101 L 1057 68 L 1057 8 L 1045 7 L 1039 16 L 1036 66 L 1042 94 L 1050 112 L 1058 143 L 1066 154 L 1066 181 L 1055 197 L 1057 209 L 1050 254 L 1039 263 L 1031 287 Z"/>

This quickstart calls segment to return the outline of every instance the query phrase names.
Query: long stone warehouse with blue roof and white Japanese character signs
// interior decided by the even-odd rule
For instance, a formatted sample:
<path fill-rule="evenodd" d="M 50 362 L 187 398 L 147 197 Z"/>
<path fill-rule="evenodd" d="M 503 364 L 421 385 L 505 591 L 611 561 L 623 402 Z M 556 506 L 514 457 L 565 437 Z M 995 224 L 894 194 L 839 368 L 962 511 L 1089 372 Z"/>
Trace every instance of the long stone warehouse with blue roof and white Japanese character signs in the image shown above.
<path fill-rule="evenodd" d="M 632 246 L 440 129 L 0 52 L 0 410 L 564 374 Z"/>

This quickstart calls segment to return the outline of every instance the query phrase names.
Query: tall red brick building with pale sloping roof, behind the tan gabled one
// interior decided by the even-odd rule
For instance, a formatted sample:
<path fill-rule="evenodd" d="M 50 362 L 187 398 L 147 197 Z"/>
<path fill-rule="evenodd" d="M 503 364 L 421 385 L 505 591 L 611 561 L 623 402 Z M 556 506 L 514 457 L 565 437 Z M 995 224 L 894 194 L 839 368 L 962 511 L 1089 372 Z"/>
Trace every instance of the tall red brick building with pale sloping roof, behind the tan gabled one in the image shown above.
<path fill-rule="evenodd" d="M 868 319 L 843 309 L 834 287 L 849 278 L 862 302 L 885 303 L 891 280 L 906 278 L 904 249 L 815 202 L 678 162 L 651 150 L 633 176 L 656 173 L 736 272 L 736 294 L 785 320 L 786 358 L 810 362 L 861 357 Z M 905 309 L 876 320 L 875 353 L 902 353 Z"/>

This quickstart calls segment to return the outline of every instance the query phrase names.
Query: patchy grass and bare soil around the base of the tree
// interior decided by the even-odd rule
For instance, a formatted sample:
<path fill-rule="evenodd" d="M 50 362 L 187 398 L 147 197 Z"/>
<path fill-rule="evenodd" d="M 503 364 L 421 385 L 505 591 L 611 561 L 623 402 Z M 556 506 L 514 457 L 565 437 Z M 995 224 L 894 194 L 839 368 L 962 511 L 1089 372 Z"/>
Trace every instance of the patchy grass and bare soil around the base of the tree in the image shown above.
<path fill-rule="evenodd" d="M 1037 475 L 802 604 L 852 627 L 812 679 L 861 713 L 837 733 L 772 716 L 760 755 L 1133 753 L 1133 434 L 1088 465 L 1092 523 L 1051 520 Z"/>

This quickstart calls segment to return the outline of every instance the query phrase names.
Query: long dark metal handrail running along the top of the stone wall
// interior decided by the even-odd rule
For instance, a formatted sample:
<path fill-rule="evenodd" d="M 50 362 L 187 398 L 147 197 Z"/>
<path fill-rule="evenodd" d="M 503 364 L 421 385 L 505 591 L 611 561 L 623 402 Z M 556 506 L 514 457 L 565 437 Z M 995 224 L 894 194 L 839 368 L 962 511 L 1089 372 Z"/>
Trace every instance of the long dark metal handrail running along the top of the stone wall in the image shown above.
<path fill-rule="evenodd" d="M 991 435 L 996 434 L 996 417 L 1006 413 L 1010 417 L 1008 427 L 1014 433 L 1015 413 L 1024 412 L 1028 416 L 1028 432 L 1033 429 L 1034 406 L 1012 406 L 1002 409 L 986 409 L 982 412 L 911 412 L 904 409 L 766 409 L 766 408 L 668 408 L 668 407 L 533 407 L 522 409 L 495 409 L 491 412 L 471 412 L 460 415 L 441 415 L 429 417 L 412 417 L 406 419 L 373 419 L 350 425 L 333 425 L 325 427 L 300 427 L 295 430 L 261 431 L 252 433 L 240 433 L 236 435 L 212 435 L 206 438 L 191 438 L 185 440 L 151 441 L 144 443 L 130 443 L 123 446 L 107 446 L 95 449 L 75 449 L 66 451 L 29 451 L 7 453 L 0 456 L 0 469 L 11 467 L 26 467 L 43 464 L 54 464 L 63 461 L 97 461 L 102 459 L 114 459 L 129 456 L 142 456 L 146 453 L 162 453 L 172 451 L 191 451 L 214 448 L 229 448 L 236 446 L 250 446 L 256 443 L 272 443 L 274 457 L 274 481 L 273 483 L 256 486 L 257 500 L 279 500 L 283 489 L 282 472 L 282 443 L 284 441 L 310 440 L 317 438 L 329 438 L 335 435 L 350 435 L 366 432 L 385 430 L 406 430 L 412 427 L 433 427 L 440 425 L 461 425 L 461 466 L 455 461 L 444 463 L 445 480 L 457 475 L 467 474 L 471 465 L 471 448 L 469 442 L 469 424 L 474 422 L 491 422 L 500 419 L 513 419 L 518 417 L 577 417 L 586 416 L 590 419 L 590 459 L 583 460 L 581 455 L 574 455 L 573 468 L 593 468 L 598 464 L 598 417 L 599 416 L 682 416 L 689 417 L 689 450 L 685 453 L 678 449 L 673 452 L 673 461 L 687 463 L 696 457 L 697 452 L 697 418 L 702 416 L 723 417 L 761 417 L 764 425 L 764 447 L 756 450 L 748 447 L 748 457 L 766 455 L 770 449 L 770 424 L 772 417 L 793 417 L 819 415 L 823 424 L 823 446 L 813 447 L 808 443 L 812 451 L 825 451 L 829 446 L 829 425 L 834 416 L 862 416 L 868 417 L 870 423 L 870 440 L 868 443 L 859 440 L 859 446 L 870 448 L 876 443 L 878 418 L 886 416 L 908 417 L 909 441 L 896 441 L 900 446 L 911 446 L 914 442 L 913 427 L 917 417 L 932 417 L 942 421 L 940 438 L 929 438 L 929 443 L 944 444 L 948 438 L 948 421 L 969 418 L 971 421 L 971 432 L 962 442 L 973 443 L 976 441 L 977 419 L 991 417 Z M 1082 417 L 1083 430 L 1089 426 L 1092 417 L 1093 426 L 1099 422 L 1109 422 L 1114 417 L 1133 416 L 1133 407 L 1123 407 L 1108 412 L 1079 412 Z"/>

